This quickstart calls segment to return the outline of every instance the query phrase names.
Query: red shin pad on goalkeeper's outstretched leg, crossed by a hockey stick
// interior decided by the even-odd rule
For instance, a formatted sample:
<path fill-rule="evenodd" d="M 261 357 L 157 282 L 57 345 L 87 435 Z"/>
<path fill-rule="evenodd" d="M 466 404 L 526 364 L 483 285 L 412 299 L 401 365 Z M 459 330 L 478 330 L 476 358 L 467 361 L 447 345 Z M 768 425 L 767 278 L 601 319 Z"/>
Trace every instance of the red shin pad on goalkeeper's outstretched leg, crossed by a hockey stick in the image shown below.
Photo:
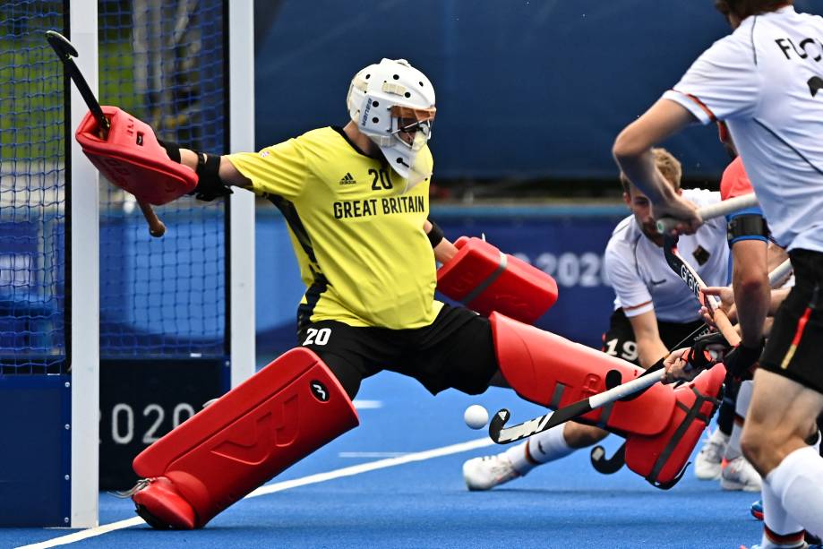
<path fill-rule="evenodd" d="M 620 358 L 500 313 L 492 313 L 489 320 L 503 377 L 522 398 L 537 404 L 556 409 L 603 392 L 606 374 L 612 370 L 621 374 L 622 382 L 643 373 Z M 620 433 L 652 435 L 666 428 L 673 409 L 673 389 L 658 383 L 636 399 L 592 410 L 580 421 Z"/>

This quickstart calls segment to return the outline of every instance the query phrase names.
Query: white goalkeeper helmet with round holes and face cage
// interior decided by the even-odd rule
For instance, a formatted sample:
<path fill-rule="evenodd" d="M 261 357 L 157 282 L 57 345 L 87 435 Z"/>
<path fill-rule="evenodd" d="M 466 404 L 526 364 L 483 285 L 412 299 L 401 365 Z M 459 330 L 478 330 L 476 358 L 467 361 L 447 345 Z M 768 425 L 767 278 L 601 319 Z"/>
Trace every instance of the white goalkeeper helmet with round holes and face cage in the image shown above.
<path fill-rule="evenodd" d="M 357 128 L 380 147 L 390 167 L 407 180 L 406 190 L 432 175 L 417 153 L 432 136 L 434 89 L 405 59 L 383 59 L 355 74 L 346 99 Z"/>

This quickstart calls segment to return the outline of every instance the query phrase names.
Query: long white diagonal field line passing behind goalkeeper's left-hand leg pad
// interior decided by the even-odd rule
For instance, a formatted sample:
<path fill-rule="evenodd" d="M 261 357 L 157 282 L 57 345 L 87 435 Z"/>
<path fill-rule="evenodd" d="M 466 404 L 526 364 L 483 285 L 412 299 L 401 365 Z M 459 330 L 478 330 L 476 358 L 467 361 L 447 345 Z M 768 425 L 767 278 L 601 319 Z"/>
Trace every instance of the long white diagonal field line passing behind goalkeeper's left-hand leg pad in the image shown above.
<path fill-rule="evenodd" d="M 362 463 L 347 468 L 336 469 L 327 473 L 318 473 L 316 475 L 304 476 L 294 480 L 286 480 L 273 485 L 262 485 L 257 490 L 245 496 L 246 498 L 253 498 L 259 495 L 266 495 L 268 493 L 282 492 L 291 488 L 297 488 L 305 485 L 315 485 L 335 478 L 342 478 L 344 476 L 360 475 L 368 473 L 369 471 L 376 471 L 377 469 L 384 469 L 390 467 L 397 467 L 405 463 L 412 463 L 415 461 L 424 461 L 426 459 L 442 458 L 451 454 L 459 454 L 460 452 L 476 450 L 477 448 L 484 448 L 485 446 L 492 446 L 494 442 L 489 437 L 477 439 L 475 441 L 460 442 L 459 444 L 452 444 L 450 446 L 443 446 L 442 448 L 435 448 L 433 450 L 424 450 L 414 453 L 404 454 L 395 458 L 378 459 L 377 461 L 370 461 L 369 463 Z M 244 498 L 245 499 L 245 498 Z M 133 519 L 118 520 L 111 524 L 104 524 L 97 528 L 89 528 L 80 532 L 74 532 L 67 536 L 55 537 L 44 542 L 31 545 L 21 545 L 16 549 L 47 549 L 48 547 L 56 547 L 58 545 L 73 544 L 74 542 L 82 541 L 90 537 L 102 536 L 108 532 L 121 530 L 123 528 L 130 528 L 145 524 L 143 519 L 135 517 Z"/>

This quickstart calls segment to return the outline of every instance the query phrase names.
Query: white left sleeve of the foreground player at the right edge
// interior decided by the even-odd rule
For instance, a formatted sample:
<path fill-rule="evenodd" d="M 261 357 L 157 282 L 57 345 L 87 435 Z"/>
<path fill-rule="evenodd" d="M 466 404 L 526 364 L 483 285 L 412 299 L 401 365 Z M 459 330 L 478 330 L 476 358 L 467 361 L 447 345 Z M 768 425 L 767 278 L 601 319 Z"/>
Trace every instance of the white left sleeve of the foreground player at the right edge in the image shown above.
<path fill-rule="evenodd" d="M 701 124 L 752 116 L 759 101 L 759 71 L 749 30 L 720 39 L 663 94 L 687 108 Z"/>

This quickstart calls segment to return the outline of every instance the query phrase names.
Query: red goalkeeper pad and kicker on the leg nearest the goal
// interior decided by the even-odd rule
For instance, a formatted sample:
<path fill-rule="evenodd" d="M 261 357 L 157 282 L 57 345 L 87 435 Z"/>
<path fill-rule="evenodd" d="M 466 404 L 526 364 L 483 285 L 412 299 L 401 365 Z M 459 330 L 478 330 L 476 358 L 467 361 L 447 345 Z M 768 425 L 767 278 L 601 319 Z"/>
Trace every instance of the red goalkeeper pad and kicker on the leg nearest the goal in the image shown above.
<path fill-rule="evenodd" d="M 133 500 L 155 528 L 201 528 L 299 459 L 359 424 L 346 391 L 298 347 L 179 425 L 133 461 Z"/>

